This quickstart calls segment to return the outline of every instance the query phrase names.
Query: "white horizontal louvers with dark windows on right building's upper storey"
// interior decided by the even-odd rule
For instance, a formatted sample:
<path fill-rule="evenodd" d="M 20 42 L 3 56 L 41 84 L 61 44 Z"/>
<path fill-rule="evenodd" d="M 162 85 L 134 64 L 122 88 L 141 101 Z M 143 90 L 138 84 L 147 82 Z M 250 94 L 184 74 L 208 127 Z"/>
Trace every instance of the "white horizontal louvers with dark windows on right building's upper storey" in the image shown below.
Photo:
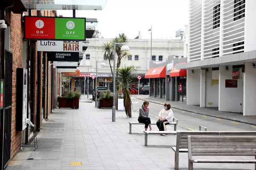
<path fill-rule="evenodd" d="M 245 51 L 246 1 L 189 0 L 188 62 Z"/>

